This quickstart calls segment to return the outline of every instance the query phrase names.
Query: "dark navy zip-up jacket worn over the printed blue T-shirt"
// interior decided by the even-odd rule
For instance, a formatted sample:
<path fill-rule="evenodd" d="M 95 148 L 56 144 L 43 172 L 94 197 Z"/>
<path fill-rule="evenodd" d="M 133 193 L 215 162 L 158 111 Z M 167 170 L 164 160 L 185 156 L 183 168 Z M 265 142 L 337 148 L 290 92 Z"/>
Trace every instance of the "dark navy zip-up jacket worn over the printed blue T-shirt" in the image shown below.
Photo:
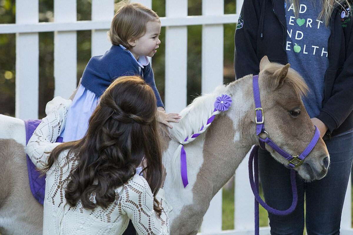
<path fill-rule="evenodd" d="M 353 129 L 353 18 L 341 20 L 341 7 L 330 19 L 329 66 L 325 72 L 323 107 L 317 116 L 334 136 Z M 287 63 L 286 17 L 283 0 L 244 0 L 235 31 L 234 69 L 237 78 L 258 74 L 267 55 Z M 315 63 L 315 61 L 313 61 Z"/>

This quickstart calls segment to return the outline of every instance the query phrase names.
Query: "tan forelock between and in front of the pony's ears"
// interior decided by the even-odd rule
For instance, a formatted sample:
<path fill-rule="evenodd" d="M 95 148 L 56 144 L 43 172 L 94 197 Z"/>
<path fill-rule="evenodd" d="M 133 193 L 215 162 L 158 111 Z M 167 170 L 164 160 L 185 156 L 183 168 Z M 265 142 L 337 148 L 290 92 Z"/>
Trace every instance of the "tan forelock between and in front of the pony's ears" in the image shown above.
<path fill-rule="evenodd" d="M 282 64 L 270 63 L 265 69 L 273 74 L 276 70 L 281 68 L 283 68 Z M 300 95 L 300 97 L 305 96 L 309 91 L 304 79 L 292 68 L 288 69 L 288 73 L 284 81 L 290 84 L 295 89 L 295 92 Z"/>

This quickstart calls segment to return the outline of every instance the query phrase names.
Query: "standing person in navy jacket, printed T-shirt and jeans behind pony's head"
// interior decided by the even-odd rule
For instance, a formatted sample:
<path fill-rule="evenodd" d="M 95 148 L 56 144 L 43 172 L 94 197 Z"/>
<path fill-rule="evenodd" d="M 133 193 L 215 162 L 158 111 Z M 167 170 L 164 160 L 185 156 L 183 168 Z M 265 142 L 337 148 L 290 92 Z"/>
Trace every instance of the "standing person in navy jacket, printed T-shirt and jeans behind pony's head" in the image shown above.
<path fill-rule="evenodd" d="M 352 1 L 244 0 L 235 31 L 237 78 L 259 73 L 265 55 L 290 63 L 310 88 L 304 106 L 330 154 L 326 177 L 297 177 L 298 206 L 288 216 L 269 214 L 271 234 L 339 234 L 343 201 L 353 159 Z M 288 113 L 289 115 L 289 113 Z M 292 202 L 289 169 L 259 150 L 266 202 L 287 209 Z M 304 194 L 306 218 L 304 218 Z"/>

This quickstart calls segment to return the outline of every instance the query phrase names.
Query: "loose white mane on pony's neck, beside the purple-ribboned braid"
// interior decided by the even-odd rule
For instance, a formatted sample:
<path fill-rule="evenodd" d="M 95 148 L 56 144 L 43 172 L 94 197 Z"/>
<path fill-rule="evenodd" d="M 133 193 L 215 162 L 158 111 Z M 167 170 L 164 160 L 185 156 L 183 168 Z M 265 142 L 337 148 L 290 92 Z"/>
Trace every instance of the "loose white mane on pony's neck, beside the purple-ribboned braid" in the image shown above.
<path fill-rule="evenodd" d="M 195 98 L 190 105 L 180 112 L 179 123 L 170 129 L 170 137 L 181 142 L 187 136 L 197 133 L 202 125 L 206 125 L 208 118 L 214 110 L 216 98 L 227 91 L 226 86 L 217 87 L 212 93 L 203 94 Z"/>

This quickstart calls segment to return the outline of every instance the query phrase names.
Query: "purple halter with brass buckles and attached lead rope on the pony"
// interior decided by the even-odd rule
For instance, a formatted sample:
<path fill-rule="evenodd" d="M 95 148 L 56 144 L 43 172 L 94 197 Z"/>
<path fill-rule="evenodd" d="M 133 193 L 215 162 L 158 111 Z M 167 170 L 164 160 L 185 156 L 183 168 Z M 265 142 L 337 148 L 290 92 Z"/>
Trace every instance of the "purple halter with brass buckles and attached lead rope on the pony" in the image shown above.
<path fill-rule="evenodd" d="M 295 181 L 295 171 L 293 170 L 294 167 L 299 166 L 301 163 L 303 163 L 305 157 L 311 152 L 311 150 L 315 147 L 315 144 L 317 143 L 319 137 L 320 137 L 320 131 L 317 129 L 315 126 L 315 134 L 312 137 L 309 145 L 305 148 L 303 153 L 297 156 L 290 155 L 286 153 L 283 149 L 278 147 L 269 137 L 269 134 L 267 131 L 265 131 L 265 125 L 264 125 L 264 112 L 261 107 L 261 100 L 260 100 L 260 92 L 259 92 L 259 84 L 258 84 L 258 75 L 253 76 L 252 79 L 252 88 L 253 88 L 253 93 L 254 93 L 254 101 L 255 101 L 255 123 L 256 123 L 256 135 L 259 137 L 259 146 L 262 149 L 265 149 L 265 143 L 267 143 L 271 148 L 273 148 L 277 153 L 279 153 L 281 156 L 283 156 L 287 161 L 288 161 L 288 168 L 291 168 L 291 184 L 292 184 L 292 193 L 293 193 L 293 202 L 290 208 L 287 210 L 281 211 L 281 210 L 276 210 L 274 208 L 271 208 L 269 205 L 267 205 L 259 196 L 259 182 L 258 182 L 258 159 L 257 159 L 257 153 L 258 153 L 258 146 L 255 146 L 249 157 L 249 180 L 250 180 L 250 186 L 251 190 L 255 196 L 255 235 L 259 234 L 259 203 L 270 213 L 274 215 L 288 215 L 292 213 L 297 206 L 298 202 L 298 194 L 297 194 L 297 184 Z M 261 138 L 259 135 L 261 133 L 266 134 L 266 138 Z M 253 171 L 252 171 L 252 161 L 254 161 L 254 172 L 255 172 L 255 182 L 254 182 L 254 177 L 253 177 Z"/>

